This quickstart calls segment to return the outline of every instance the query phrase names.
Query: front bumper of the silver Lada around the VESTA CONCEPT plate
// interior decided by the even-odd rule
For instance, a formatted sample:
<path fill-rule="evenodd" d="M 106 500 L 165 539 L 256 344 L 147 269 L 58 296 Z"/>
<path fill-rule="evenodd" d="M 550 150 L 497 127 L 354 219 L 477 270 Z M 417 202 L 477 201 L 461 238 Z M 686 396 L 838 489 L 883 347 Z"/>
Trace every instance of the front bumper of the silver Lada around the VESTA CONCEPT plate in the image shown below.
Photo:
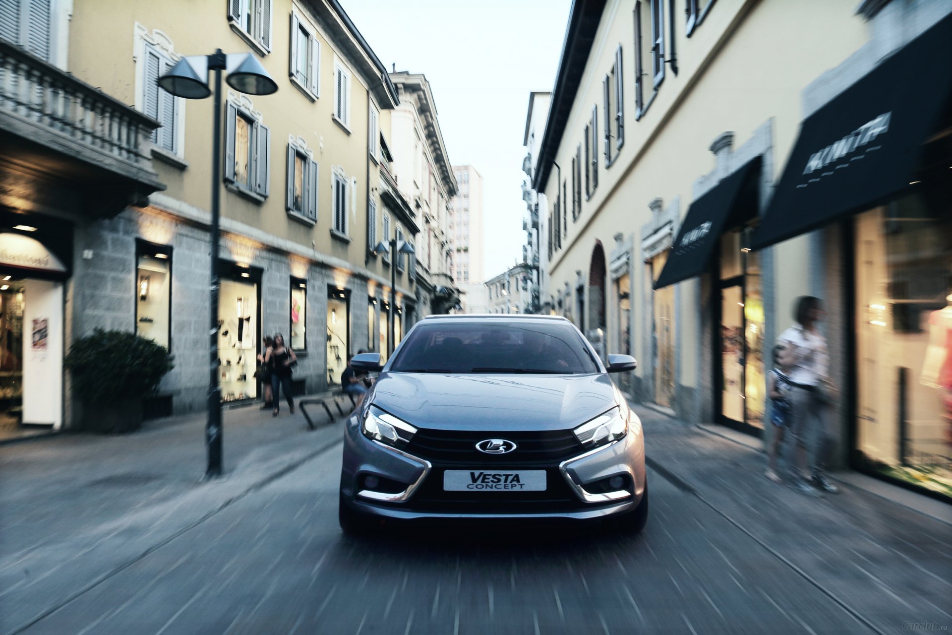
<path fill-rule="evenodd" d="M 624 439 L 607 446 L 581 452 L 551 465 L 508 465 L 506 469 L 545 468 L 549 492 L 564 492 L 558 500 L 522 501 L 506 494 L 472 497 L 466 492 L 442 493 L 443 470 L 459 465 L 441 465 L 407 451 L 371 441 L 360 431 L 357 416 L 347 420 L 341 493 L 353 509 L 393 519 L 570 519 L 585 520 L 625 513 L 641 503 L 645 491 L 645 446 L 641 427 Z M 492 469 L 491 464 L 466 469 Z M 376 491 L 362 486 L 362 477 L 404 484 Z M 591 484 L 625 476 L 623 490 L 586 488 Z M 399 491 L 398 491 L 399 489 Z"/>

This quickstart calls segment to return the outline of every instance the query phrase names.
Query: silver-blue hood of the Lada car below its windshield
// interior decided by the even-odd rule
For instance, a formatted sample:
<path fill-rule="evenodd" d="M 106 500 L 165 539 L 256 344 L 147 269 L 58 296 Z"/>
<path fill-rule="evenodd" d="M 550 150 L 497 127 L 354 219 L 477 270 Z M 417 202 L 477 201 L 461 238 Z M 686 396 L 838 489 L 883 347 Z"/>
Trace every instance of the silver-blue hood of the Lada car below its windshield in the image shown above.
<path fill-rule="evenodd" d="M 620 398 L 607 374 L 383 372 L 373 387 L 370 403 L 416 427 L 557 430 L 597 417 Z"/>

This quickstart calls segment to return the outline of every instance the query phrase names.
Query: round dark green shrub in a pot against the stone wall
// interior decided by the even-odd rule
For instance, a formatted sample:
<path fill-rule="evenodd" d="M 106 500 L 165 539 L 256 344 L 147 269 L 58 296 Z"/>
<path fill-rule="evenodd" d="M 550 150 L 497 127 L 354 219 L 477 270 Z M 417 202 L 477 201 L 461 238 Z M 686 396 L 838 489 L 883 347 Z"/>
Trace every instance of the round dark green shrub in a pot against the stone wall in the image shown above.
<path fill-rule="evenodd" d="M 72 392 L 83 402 L 83 425 L 122 433 L 142 427 L 142 400 L 172 369 L 166 347 L 134 333 L 95 329 L 76 340 L 64 360 Z"/>

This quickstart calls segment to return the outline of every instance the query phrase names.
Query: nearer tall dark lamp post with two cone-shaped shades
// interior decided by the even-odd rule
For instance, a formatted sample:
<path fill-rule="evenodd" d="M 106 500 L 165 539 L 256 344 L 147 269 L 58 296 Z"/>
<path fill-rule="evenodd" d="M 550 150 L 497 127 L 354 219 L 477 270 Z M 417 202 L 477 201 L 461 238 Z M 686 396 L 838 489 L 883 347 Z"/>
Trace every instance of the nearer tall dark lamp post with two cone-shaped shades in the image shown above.
<path fill-rule="evenodd" d="M 168 73 L 159 77 L 158 85 L 176 97 L 205 99 L 212 94 L 208 88 L 208 71 L 214 71 L 214 113 L 211 130 L 211 285 L 210 330 L 208 332 L 208 423 L 205 445 L 208 467 L 205 477 L 222 474 L 222 399 L 218 385 L 218 279 L 219 216 L 221 211 L 222 172 L 222 70 L 228 70 L 228 86 L 249 95 L 269 95 L 278 85 L 251 53 L 225 54 L 221 49 L 210 55 L 183 57 Z"/>

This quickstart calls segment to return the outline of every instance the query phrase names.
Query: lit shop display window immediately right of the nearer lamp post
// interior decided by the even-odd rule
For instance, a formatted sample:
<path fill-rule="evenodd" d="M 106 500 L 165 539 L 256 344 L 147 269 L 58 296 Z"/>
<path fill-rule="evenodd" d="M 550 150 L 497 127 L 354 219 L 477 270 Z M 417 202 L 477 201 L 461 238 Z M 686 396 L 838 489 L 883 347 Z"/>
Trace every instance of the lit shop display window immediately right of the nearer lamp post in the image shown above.
<path fill-rule="evenodd" d="M 223 273 L 218 298 L 218 362 L 222 401 L 253 399 L 258 396 L 254 378 L 260 336 L 258 285 L 253 275 L 234 268 L 234 278 Z"/>

